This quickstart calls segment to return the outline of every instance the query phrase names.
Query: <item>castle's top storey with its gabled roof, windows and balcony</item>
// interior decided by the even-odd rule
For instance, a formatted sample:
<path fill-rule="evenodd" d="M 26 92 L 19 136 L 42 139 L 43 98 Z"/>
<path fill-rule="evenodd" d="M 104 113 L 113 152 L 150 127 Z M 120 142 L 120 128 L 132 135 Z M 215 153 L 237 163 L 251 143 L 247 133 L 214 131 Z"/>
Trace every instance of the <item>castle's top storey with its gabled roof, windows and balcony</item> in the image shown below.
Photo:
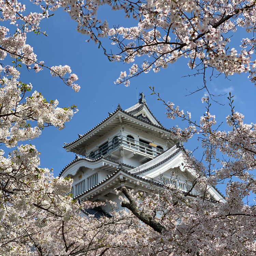
<path fill-rule="evenodd" d="M 148 108 L 144 95 L 126 110 L 117 109 L 75 141 L 65 143 L 67 152 L 95 159 L 105 156 L 138 167 L 171 148 L 170 133 Z"/>

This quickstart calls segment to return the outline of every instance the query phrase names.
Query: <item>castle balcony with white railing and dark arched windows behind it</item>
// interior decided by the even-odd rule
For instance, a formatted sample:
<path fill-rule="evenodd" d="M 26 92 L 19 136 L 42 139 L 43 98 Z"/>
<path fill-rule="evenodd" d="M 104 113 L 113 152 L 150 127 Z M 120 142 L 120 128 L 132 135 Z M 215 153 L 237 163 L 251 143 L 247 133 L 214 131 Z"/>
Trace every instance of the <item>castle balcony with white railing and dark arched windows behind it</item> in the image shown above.
<path fill-rule="evenodd" d="M 114 159 L 126 156 L 127 158 L 140 158 L 141 162 L 150 160 L 161 154 L 164 150 L 161 146 L 143 140 L 135 140 L 132 136 L 115 137 L 110 142 L 105 142 L 95 151 L 87 155 L 89 158 L 97 158 L 101 155 Z"/>

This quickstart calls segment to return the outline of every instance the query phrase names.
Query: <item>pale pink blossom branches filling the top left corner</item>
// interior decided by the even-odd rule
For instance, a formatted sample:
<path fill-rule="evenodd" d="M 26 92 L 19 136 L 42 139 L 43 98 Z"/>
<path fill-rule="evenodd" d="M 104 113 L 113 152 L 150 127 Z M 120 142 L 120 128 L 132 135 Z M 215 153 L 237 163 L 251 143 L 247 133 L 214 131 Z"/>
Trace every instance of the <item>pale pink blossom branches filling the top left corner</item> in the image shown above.
<path fill-rule="evenodd" d="M 0 60 L 4 60 L 7 54 L 15 59 L 12 61 L 15 64 L 13 66 L 1 62 L 0 71 L 4 71 L 5 75 L 11 75 L 18 79 L 19 71 L 17 68 L 20 68 L 22 64 L 26 65 L 29 69 L 33 69 L 35 72 L 39 72 L 43 67 L 46 67 L 53 76 L 59 76 L 68 86 L 72 87 L 75 91 L 79 91 L 79 85 L 73 83 L 77 80 L 77 76 L 72 74 L 69 78 L 65 77 L 66 73 L 71 72 L 69 66 L 60 66 L 56 69 L 56 67 L 49 68 L 45 66 L 43 61 L 37 62 L 37 55 L 33 52 L 33 47 L 26 43 L 28 32 L 45 34 L 45 32 L 40 31 L 39 25 L 42 19 L 49 17 L 48 8 L 42 13 L 35 12 L 23 15 L 26 9 L 25 4 L 13 0 L 2 1 L 0 9 L 1 20 L 9 20 L 10 24 L 15 25 L 13 34 L 9 33 L 9 28 L 0 26 Z"/>

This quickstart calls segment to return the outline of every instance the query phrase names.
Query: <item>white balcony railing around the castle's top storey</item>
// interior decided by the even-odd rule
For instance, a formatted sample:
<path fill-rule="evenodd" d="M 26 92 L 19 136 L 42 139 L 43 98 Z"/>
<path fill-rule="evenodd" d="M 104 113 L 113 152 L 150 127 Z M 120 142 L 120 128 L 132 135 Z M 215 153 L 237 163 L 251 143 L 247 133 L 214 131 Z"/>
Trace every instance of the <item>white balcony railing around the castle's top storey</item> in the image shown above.
<path fill-rule="evenodd" d="M 156 157 L 161 154 L 163 150 L 161 148 L 157 148 L 151 146 L 149 144 L 143 143 L 141 141 L 137 141 L 127 137 L 116 137 L 110 142 L 106 142 L 100 146 L 98 150 L 95 150 L 87 155 L 89 158 L 97 158 L 101 155 L 106 155 L 115 150 L 118 146 L 123 146 L 126 148 L 130 148 L 134 151 L 141 152 L 146 155 L 150 155 L 152 157 Z"/>

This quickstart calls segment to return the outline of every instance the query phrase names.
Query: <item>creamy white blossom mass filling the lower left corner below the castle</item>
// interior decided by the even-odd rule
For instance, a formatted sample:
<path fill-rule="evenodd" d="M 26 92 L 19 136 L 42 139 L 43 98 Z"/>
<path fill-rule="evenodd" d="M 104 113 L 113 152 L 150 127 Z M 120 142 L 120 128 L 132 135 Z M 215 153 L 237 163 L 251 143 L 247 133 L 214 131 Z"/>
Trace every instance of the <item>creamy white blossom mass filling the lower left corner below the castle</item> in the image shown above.
<path fill-rule="evenodd" d="M 1 150 L 0 161 L 0 255 L 100 255 L 120 233 L 118 227 L 130 224 L 130 214 L 114 208 L 113 218 L 82 217 L 81 208 L 99 203 L 79 205 L 66 196 L 72 179 L 55 179 L 51 170 L 39 168 L 34 146 L 21 145 L 9 157 Z"/>

